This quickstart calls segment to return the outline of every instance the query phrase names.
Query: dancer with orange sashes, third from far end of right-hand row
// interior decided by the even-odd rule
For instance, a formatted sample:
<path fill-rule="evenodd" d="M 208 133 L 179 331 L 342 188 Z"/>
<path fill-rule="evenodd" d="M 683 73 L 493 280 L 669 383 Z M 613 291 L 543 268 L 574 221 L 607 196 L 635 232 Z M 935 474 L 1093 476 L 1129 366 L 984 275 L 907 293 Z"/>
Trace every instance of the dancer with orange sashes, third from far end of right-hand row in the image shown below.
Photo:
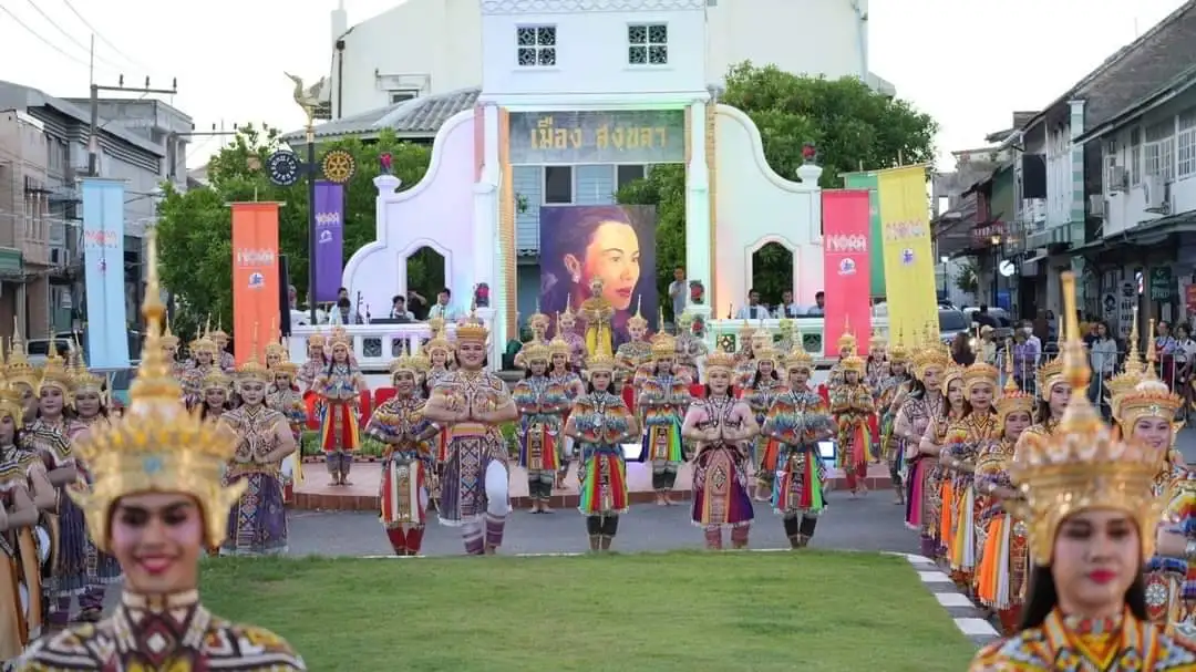
<path fill-rule="evenodd" d="M 945 500 L 942 506 L 951 507 L 954 523 L 947 563 L 956 584 L 965 592 L 972 589 L 976 554 L 983 548 L 984 531 L 976 525 L 982 511 L 975 488 L 976 458 L 988 444 L 999 441 L 1003 433 L 993 405 L 999 379 L 1000 371 L 983 361 L 964 369 L 964 413 L 947 427 L 945 446 L 939 456 L 939 464 L 947 471 L 945 477 L 951 479 L 952 493 L 952 500 Z"/>

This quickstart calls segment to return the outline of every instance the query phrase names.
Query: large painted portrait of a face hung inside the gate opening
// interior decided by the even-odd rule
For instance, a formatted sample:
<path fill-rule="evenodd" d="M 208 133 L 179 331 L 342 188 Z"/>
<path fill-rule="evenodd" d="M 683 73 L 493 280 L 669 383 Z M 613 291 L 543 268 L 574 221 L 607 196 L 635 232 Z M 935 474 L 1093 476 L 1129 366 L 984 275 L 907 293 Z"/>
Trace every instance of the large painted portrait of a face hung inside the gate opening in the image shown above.
<path fill-rule="evenodd" d="M 539 210 L 539 310 L 556 323 L 603 280 L 615 307 L 614 347 L 627 341 L 636 307 L 657 329 L 657 210 L 652 206 L 549 206 Z M 581 325 L 581 322 L 578 323 Z"/>

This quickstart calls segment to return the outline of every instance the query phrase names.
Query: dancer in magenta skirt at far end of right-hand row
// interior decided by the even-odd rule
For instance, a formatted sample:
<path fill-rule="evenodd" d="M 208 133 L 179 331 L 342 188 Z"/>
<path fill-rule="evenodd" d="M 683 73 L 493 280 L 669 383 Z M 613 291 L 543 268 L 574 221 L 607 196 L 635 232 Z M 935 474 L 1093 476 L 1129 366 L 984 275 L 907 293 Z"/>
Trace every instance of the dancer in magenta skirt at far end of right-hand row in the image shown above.
<path fill-rule="evenodd" d="M 915 349 L 915 379 L 893 421 L 893 436 L 901 441 L 902 457 L 909 465 L 905 481 L 905 526 L 921 532 L 922 555 L 934 557 L 938 546 L 938 488 L 932 477 L 939 454 L 922 452 L 922 436 L 932 422 L 946 419 L 950 407 L 942 393 L 942 374 L 951 356 L 941 343 L 922 343 Z"/>

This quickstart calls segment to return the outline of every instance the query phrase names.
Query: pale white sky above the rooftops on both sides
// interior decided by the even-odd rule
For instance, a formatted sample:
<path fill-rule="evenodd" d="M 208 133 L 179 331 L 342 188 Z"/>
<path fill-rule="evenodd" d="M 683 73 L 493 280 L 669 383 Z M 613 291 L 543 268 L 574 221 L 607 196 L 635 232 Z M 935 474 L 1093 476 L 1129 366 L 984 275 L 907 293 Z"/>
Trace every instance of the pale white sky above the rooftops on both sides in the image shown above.
<path fill-rule="evenodd" d="M 344 0 L 349 25 L 401 0 Z M 724 0 L 743 1 L 752 0 Z M 825 2 L 848 0 L 819 0 Z M 869 60 L 897 96 L 940 124 L 938 166 L 951 151 L 983 146 L 1013 110 L 1062 96 L 1183 0 L 871 0 Z M 94 81 L 170 88 L 164 97 L 197 130 L 233 123 L 303 124 L 283 71 L 316 81 L 331 61 L 336 0 L 0 0 L 0 80 L 51 96 L 86 97 L 89 44 Z M 298 7 L 307 7 L 306 12 Z M 13 18 L 16 17 L 16 19 Z M 25 24 L 23 28 L 18 20 Z M 800 41 L 794 42 L 800 48 Z M 22 57 L 11 57 L 22 54 Z M 136 97 L 136 96 L 130 96 Z M 202 165 L 220 139 L 195 139 Z"/>

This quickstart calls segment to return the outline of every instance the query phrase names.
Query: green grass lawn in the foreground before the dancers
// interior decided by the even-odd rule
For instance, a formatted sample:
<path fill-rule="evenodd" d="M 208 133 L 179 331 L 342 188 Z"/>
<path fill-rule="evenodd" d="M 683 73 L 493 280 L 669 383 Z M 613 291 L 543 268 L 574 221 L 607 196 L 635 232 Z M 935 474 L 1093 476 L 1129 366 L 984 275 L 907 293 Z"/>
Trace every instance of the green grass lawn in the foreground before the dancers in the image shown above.
<path fill-rule="evenodd" d="M 975 647 L 902 557 L 221 558 L 214 612 L 316 672 L 965 670 Z"/>

